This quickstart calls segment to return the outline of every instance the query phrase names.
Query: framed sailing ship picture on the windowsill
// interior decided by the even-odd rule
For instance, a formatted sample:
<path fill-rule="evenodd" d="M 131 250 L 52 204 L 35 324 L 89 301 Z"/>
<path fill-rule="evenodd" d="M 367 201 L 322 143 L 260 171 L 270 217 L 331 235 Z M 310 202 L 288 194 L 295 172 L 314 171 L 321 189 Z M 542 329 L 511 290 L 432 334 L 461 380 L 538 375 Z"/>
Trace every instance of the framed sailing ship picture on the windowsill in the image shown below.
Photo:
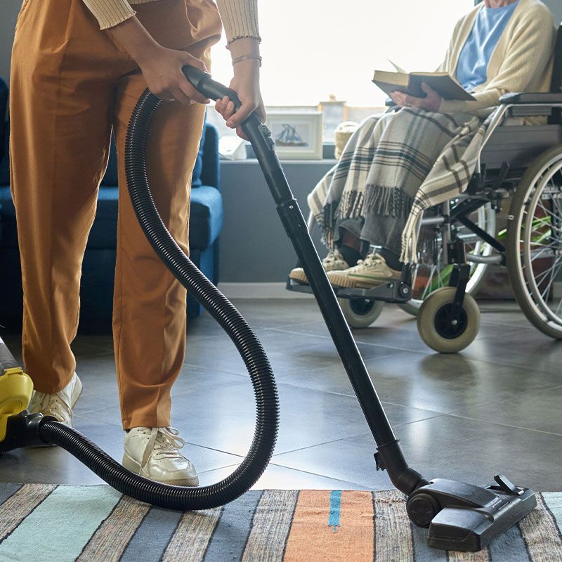
<path fill-rule="evenodd" d="M 280 160 L 322 159 L 322 113 L 272 111 L 266 124 Z"/>

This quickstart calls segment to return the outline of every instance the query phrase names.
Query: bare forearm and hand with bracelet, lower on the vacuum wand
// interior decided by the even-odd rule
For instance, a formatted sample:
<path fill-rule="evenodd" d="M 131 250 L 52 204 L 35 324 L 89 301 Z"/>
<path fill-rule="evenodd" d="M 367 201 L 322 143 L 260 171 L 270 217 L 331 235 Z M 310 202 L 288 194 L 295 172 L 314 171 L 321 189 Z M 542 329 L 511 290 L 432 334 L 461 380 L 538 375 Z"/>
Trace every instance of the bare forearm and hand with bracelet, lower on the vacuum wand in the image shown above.
<path fill-rule="evenodd" d="M 243 55 L 257 57 L 259 56 L 257 48 L 258 42 L 256 39 L 249 38 L 237 39 L 230 45 L 233 60 Z M 252 112 L 256 112 L 262 123 L 266 120 L 266 110 L 263 107 L 259 89 L 259 67 L 260 60 L 257 58 L 240 60 L 239 63 L 233 65 L 234 78 L 230 81 L 230 88 L 237 92 L 238 99 L 242 103 L 237 112 L 234 110 L 234 103 L 227 96 L 216 100 L 215 105 L 216 110 L 226 120 L 226 125 L 230 129 L 236 129 L 237 135 L 245 140 L 247 138 L 240 125 Z"/>

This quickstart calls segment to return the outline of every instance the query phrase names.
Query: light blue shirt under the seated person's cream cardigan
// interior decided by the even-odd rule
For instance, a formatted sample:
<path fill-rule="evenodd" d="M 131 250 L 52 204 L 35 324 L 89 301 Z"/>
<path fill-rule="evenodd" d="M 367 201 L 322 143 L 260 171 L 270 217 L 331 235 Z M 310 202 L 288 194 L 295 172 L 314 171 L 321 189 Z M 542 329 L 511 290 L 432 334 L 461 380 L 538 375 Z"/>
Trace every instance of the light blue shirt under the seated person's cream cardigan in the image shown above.
<path fill-rule="evenodd" d="M 502 8 L 481 8 L 457 64 L 457 80 L 466 91 L 488 79 L 488 63 L 519 0 Z"/>

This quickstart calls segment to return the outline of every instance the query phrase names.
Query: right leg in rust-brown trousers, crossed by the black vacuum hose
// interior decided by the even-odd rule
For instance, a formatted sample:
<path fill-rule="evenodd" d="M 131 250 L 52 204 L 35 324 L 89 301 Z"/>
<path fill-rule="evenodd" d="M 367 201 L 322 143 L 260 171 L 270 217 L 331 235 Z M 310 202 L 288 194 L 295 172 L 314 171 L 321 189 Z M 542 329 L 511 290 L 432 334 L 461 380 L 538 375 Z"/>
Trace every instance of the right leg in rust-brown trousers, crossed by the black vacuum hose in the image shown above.
<path fill-rule="evenodd" d="M 159 0 L 135 8 L 160 44 L 183 48 L 210 67 L 209 47 L 221 32 L 221 20 L 211 3 Z M 202 40 L 195 42 L 197 37 Z M 145 88 L 143 75 L 133 68 L 119 82 L 115 106 L 119 221 L 113 336 L 124 429 L 169 426 L 171 386 L 185 355 L 185 289 L 146 240 L 126 188 L 126 129 Z M 148 140 L 152 194 L 162 220 L 186 254 L 191 174 L 204 112 L 200 104 L 163 103 L 152 119 Z"/>

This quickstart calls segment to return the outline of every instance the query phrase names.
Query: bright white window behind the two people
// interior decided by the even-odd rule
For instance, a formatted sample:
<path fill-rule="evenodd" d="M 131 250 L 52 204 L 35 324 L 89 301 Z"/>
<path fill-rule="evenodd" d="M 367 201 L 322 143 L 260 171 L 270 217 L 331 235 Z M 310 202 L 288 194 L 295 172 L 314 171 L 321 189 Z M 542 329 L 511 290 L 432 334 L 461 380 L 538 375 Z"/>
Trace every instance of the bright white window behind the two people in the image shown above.
<path fill-rule="evenodd" d="M 384 105 L 373 71 L 434 70 L 455 22 L 473 0 L 259 0 L 261 91 L 266 105 L 308 105 L 330 96 L 363 112 Z M 230 53 L 214 48 L 214 77 L 228 84 Z M 358 112 L 358 115 L 362 115 Z"/>

